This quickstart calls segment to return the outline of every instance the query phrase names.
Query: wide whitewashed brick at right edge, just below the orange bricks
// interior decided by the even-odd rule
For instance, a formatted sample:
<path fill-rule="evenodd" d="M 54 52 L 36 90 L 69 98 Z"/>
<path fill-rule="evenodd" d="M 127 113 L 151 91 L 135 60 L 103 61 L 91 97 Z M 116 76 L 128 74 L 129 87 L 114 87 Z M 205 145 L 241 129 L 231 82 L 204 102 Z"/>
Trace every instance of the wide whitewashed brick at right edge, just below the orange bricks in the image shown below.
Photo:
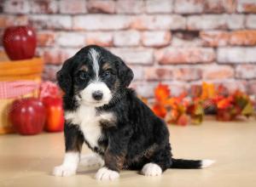
<path fill-rule="evenodd" d="M 219 63 L 256 63 L 256 48 L 218 48 Z"/>

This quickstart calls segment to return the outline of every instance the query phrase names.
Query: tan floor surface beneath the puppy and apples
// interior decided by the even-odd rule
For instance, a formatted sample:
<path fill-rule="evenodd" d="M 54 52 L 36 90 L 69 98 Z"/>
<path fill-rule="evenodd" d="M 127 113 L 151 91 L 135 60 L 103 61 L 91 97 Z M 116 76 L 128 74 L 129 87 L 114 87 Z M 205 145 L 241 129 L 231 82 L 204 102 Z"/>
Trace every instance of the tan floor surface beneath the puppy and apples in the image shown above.
<path fill-rule="evenodd" d="M 4 135 L 0 136 L 0 186 L 256 186 L 255 120 L 210 121 L 170 130 L 175 157 L 209 158 L 216 164 L 201 170 L 169 169 L 154 178 L 124 171 L 113 182 L 96 181 L 96 168 L 80 168 L 76 176 L 60 178 L 50 171 L 62 161 L 62 133 Z"/>

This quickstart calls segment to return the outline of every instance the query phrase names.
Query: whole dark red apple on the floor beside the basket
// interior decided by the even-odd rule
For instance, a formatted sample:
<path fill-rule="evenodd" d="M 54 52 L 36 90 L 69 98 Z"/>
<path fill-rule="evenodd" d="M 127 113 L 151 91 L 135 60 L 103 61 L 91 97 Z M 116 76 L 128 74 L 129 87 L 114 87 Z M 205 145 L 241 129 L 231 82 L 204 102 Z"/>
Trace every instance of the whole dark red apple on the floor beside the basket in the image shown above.
<path fill-rule="evenodd" d="M 46 111 L 36 98 L 17 99 L 10 107 L 9 119 L 20 134 L 41 133 L 44 129 Z"/>

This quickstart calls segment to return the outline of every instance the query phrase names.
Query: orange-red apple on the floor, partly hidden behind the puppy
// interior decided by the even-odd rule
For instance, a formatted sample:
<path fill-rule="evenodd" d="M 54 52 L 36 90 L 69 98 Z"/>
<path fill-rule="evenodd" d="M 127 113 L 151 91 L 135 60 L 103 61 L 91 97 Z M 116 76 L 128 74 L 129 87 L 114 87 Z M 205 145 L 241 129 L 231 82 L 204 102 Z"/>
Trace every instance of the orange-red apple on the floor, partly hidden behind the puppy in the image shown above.
<path fill-rule="evenodd" d="M 48 132 L 60 132 L 64 128 L 64 111 L 62 108 L 62 99 L 45 97 L 43 99 L 46 108 L 45 130 Z"/>

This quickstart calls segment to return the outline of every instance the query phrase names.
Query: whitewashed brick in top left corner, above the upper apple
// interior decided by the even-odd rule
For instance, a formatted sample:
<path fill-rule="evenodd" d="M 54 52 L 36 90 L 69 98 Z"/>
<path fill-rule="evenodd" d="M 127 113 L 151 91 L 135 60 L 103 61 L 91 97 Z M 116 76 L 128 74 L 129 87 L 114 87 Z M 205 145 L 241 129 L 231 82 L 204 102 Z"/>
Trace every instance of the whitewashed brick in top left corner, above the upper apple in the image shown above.
<path fill-rule="evenodd" d="M 3 12 L 26 14 L 30 11 L 30 2 L 27 0 L 8 0 L 3 3 Z"/>

